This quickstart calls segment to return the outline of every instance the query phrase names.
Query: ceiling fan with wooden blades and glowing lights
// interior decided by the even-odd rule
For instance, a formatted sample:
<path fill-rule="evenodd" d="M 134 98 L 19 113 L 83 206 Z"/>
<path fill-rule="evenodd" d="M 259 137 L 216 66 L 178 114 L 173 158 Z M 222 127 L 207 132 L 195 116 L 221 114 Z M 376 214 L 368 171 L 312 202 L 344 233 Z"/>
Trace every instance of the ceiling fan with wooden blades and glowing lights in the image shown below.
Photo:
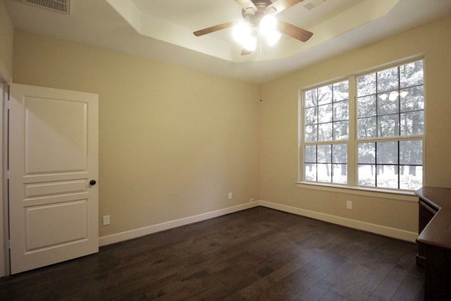
<path fill-rule="evenodd" d="M 257 35 L 266 38 L 270 46 L 276 44 L 280 37 L 280 32 L 306 42 L 313 35 L 313 32 L 304 30 L 283 20 L 274 17 L 277 13 L 284 11 L 304 0 L 235 0 L 242 7 L 243 20 L 235 20 L 228 23 L 218 24 L 197 30 L 195 36 L 223 30 L 233 27 L 233 34 L 237 42 L 242 44 L 242 55 L 251 54 L 257 47 Z"/>

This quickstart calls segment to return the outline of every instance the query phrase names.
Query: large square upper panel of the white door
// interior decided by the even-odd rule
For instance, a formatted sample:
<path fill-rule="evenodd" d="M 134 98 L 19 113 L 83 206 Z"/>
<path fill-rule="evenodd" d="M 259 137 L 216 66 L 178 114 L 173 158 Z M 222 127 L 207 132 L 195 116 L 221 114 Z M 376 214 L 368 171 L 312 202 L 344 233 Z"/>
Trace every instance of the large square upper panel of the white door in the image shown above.
<path fill-rule="evenodd" d="M 87 103 L 24 97 L 23 106 L 25 175 L 87 171 Z"/>

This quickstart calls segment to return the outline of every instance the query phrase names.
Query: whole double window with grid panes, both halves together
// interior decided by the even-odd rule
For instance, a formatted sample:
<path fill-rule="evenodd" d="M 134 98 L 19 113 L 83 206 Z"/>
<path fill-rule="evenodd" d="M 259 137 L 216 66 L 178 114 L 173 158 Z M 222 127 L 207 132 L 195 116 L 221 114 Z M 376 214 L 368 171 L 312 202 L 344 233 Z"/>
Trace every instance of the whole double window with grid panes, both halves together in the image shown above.
<path fill-rule="evenodd" d="M 421 187 L 422 59 L 304 90 L 302 121 L 302 180 L 401 190 Z"/>

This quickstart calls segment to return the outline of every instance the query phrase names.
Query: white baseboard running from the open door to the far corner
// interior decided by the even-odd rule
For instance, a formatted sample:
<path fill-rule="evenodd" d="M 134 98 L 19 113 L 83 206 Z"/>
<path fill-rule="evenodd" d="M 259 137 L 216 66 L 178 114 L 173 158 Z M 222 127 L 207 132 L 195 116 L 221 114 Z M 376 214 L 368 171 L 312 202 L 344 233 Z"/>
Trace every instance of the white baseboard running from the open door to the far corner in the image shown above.
<path fill-rule="evenodd" d="M 205 221 L 207 219 L 213 219 L 214 217 L 223 216 L 237 211 L 242 211 L 252 207 L 258 207 L 259 202 L 249 202 L 246 204 L 240 204 L 233 207 L 228 207 L 225 209 L 219 209 L 216 211 L 206 212 L 204 214 L 198 214 L 194 216 L 188 216 L 183 219 L 176 219 L 174 221 L 166 221 L 164 223 L 157 223 L 156 225 L 147 226 L 143 228 L 137 228 L 130 231 L 125 231 L 121 233 L 101 236 L 99 238 L 99 246 L 111 245 L 115 242 L 121 242 L 124 240 L 130 240 L 132 238 L 139 238 L 144 235 L 149 235 L 152 233 L 165 231 L 171 228 L 176 228 L 180 226 L 185 226 L 190 223 L 197 223 L 198 221 Z"/>

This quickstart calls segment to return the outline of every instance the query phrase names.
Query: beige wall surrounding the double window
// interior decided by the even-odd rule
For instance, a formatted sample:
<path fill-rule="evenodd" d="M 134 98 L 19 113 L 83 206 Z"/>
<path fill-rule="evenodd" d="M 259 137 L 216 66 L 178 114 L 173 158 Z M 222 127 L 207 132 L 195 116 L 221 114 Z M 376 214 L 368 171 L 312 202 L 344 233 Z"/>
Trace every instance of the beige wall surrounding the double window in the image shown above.
<path fill-rule="evenodd" d="M 262 87 L 261 199 L 320 214 L 417 231 L 418 204 L 297 188 L 298 92 L 392 61 L 425 54 L 426 185 L 451 187 L 451 16 L 350 51 Z M 345 209 L 346 200 L 354 209 Z"/>

